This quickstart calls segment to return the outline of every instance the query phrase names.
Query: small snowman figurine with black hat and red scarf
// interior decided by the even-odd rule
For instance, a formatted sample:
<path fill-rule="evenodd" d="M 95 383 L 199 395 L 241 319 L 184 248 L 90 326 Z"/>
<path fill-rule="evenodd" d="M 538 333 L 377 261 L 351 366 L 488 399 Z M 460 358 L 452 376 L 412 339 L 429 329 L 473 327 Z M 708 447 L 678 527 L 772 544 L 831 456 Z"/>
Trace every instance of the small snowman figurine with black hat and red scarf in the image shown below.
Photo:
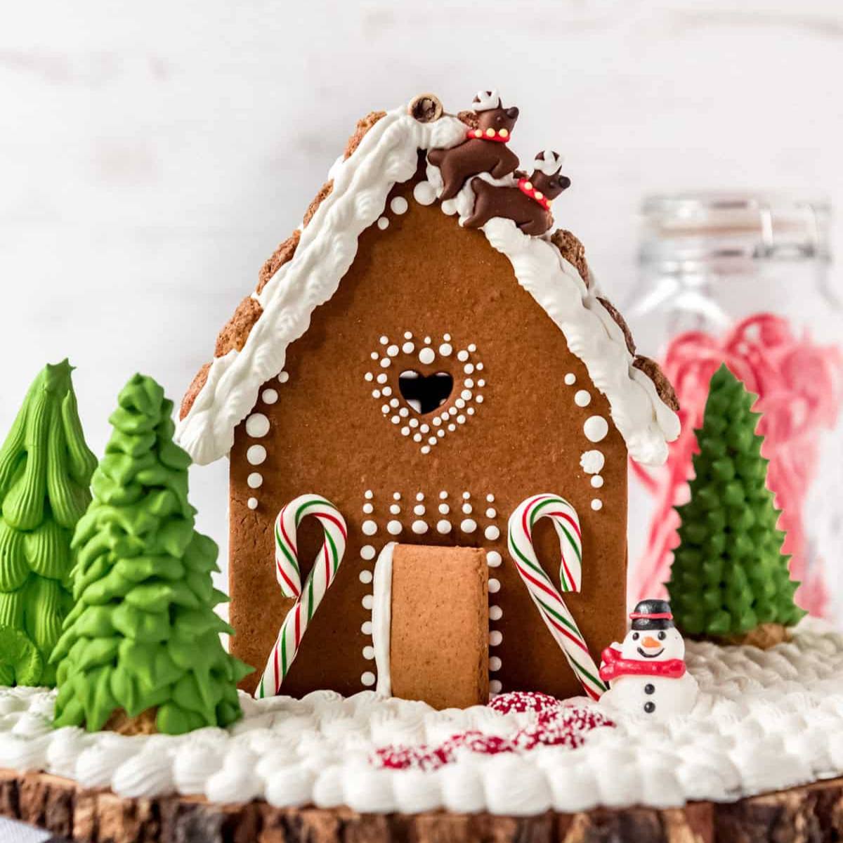
<path fill-rule="evenodd" d="M 630 615 L 622 644 L 603 651 L 600 679 L 609 683 L 600 702 L 630 714 L 664 720 L 687 714 L 699 687 L 685 668 L 685 642 L 667 600 L 642 600 Z"/>

